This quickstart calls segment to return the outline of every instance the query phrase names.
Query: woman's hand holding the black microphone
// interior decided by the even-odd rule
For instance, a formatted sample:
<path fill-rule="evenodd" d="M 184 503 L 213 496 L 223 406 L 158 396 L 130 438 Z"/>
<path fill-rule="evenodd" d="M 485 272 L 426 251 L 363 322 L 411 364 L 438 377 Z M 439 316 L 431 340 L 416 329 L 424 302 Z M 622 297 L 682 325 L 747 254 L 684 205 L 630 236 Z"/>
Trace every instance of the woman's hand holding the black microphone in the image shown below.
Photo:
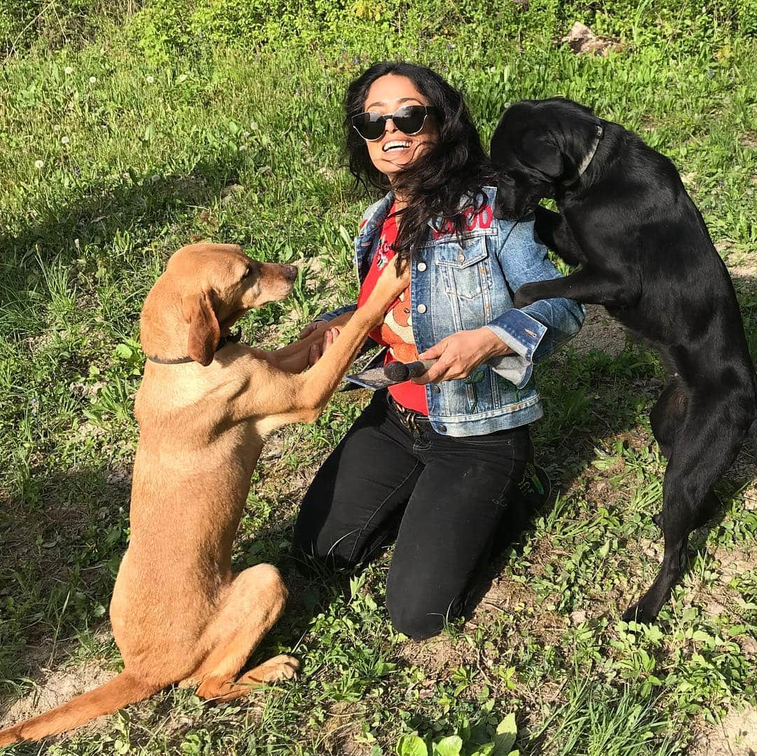
<path fill-rule="evenodd" d="M 491 328 L 458 331 L 418 355 L 419 359 L 435 359 L 436 362 L 423 375 L 413 378 L 413 383 L 441 383 L 468 378 L 481 362 L 510 353 L 512 349 Z"/>

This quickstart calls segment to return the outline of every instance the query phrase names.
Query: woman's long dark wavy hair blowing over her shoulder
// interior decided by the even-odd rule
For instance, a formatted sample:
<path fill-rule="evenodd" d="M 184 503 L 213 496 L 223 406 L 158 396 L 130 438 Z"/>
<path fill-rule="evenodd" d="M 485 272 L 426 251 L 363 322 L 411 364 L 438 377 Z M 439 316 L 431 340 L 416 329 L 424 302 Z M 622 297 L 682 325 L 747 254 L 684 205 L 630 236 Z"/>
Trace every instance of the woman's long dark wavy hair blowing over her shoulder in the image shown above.
<path fill-rule="evenodd" d="M 363 138 L 352 127 L 352 117 L 366 108 L 368 90 L 376 79 L 405 76 L 435 108 L 437 144 L 429 146 L 413 163 L 397 173 L 394 184 L 380 173 L 368 154 Z M 463 95 L 447 84 L 438 73 L 411 63 L 375 63 L 350 83 L 344 98 L 344 127 L 350 173 L 356 185 L 388 191 L 393 189 L 407 200 L 401 216 L 394 250 L 399 260 L 409 260 L 413 247 L 420 247 L 428 233 L 431 218 L 450 222 L 459 236 L 463 231 L 463 210 L 478 210 L 486 201 L 481 187 L 496 181 L 481 138 L 478 135 Z M 469 201 L 461 200 L 469 197 Z"/>

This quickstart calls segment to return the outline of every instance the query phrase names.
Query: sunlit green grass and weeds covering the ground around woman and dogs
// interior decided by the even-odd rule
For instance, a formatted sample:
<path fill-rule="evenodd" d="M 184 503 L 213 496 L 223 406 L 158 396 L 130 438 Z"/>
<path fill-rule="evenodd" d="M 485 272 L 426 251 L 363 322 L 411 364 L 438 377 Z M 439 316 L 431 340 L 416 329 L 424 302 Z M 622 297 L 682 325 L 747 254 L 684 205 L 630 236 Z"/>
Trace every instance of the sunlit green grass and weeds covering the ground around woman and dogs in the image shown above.
<path fill-rule="evenodd" d="M 663 39 L 639 6 L 637 19 L 597 16 L 598 31 L 623 33 L 622 51 L 577 57 L 552 41 L 567 28 L 544 30 L 531 5 L 506 33 L 477 17 L 427 30 L 422 44 L 382 32 L 358 45 L 350 29 L 344 50 L 307 39 L 257 51 L 197 42 L 162 62 L 106 25 L 92 42 L 36 45 L 0 69 L 8 704 L 44 683 L 41 667 L 118 667 L 105 618 L 129 533 L 138 315 L 168 255 L 213 238 L 301 264 L 293 297 L 245 319 L 251 343 L 288 341 L 314 313 L 354 297 L 350 238 L 366 199 L 344 170 L 339 104 L 369 60 L 443 70 L 484 138 L 506 101 L 555 94 L 636 129 L 684 175 L 734 267 L 757 344 L 757 42 L 725 27 L 678 29 L 672 11 L 662 13 L 673 24 Z M 662 367 L 638 345 L 616 356 L 568 347 L 539 378 L 547 415 L 537 453 L 558 494 L 494 560 L 469 623 L 409 642 L 384 607 L 390 554 L 359 577 L 319 579 L 288 556 L 302 493 L 365 401 L 339 397 L 316 425 L 287 428 L 263 451 L 236 540 L 238 567 L 270 561 L 285 574 L 291 602 L 256 658 L 294 652 L 298 683 L 225 707 L 170 690 L 47 752 L 377 756 L 412 732 L 428 742 L 458 733 L 470 752 L 515 713 L 525 754 L 674 754 L 729 708 L 755 705 L 752 450 L 721 484 L 726 514 L 693 537 L 691 569 L 659 625 L 629 626 L 619 614 L 660 558 L 650 517 L 664 464 L 646 415 Z"/>

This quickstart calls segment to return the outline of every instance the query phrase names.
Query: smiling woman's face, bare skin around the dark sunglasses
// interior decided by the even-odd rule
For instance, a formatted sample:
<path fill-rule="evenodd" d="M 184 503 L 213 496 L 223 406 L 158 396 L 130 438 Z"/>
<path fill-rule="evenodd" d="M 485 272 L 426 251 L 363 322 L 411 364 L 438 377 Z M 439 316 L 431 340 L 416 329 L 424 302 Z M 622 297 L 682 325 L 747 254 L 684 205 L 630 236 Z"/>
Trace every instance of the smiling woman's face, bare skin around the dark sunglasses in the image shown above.
<path fill-rule="evenodd" d="M 365 110 L 382 115 L 394 113 L 404 105 L 428 105 L 428 100 L 407 76 L 388 73 L 372 83 L 366 96 Z M 403 134 L 393 120 L 385 123 L 384 135 L 375 142 L 366 142 L 368 154 L 376 170 L 388 177 L 413 163 L 429 145 L 438 142 L 439 133 L 433 117 L 428 116 L 417 134 Z"/>

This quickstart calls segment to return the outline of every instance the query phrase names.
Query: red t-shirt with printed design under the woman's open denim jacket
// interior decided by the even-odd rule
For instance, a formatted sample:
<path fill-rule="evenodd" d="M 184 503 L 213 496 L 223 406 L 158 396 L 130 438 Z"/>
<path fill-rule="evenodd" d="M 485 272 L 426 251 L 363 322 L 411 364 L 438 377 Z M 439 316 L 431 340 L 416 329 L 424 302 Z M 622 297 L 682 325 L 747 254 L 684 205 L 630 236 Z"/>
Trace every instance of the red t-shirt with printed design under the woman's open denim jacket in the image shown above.
<path fill-rule="evenodd" d="M 397 218 L 391 216 L 394 213 L 392 205 L 390 216 L 384 221 L 381 236 L 378 238 L 378 247 L 371 262 L 368 275 L 360 286 L 360 294 L 357 295 L 357 306 L 363 304 L 373 291 L 378 276 L 388 264 L 394 265 L 397 254 L 391 245 L 397 241 Z M 418 359 L 416 340 L 413 336 L 413 324 L 410 318 L 410 286 L 397 297 L 391 304 L 384 318 L 384 322 L 370 332 L 370 337 L 382 347 L 388 347 L 384 364 L 389 362 L 414 362 Z M 425 386 L 419 386 L 412 381 L 394 384 L 389 387 L 389 394 L 397 404 L 401 404 L 414 412 L 422 412 L 428 415 L 428 402 L 425 396 Z"/>

